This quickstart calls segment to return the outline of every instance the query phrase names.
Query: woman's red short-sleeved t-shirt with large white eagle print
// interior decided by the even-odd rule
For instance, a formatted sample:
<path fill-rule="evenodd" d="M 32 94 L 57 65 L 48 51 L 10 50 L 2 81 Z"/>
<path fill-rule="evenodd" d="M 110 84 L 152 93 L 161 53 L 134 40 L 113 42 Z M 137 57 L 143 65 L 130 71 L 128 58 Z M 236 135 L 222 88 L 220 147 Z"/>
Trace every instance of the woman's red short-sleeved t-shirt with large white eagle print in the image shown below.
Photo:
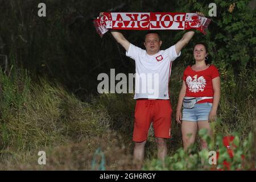
<path fill-rule="evenodd" d="M 214 65 L 203 71 L 193 71 L 189 65 L 183 73 L 183 80 L 187 86 L 185 97 L 213 97 L 212 79 L 218 76 L 220 76 L 218 69 Z M 204 102 L 213 103 L 213 99 L 205 99 L 197 103 Z"/>

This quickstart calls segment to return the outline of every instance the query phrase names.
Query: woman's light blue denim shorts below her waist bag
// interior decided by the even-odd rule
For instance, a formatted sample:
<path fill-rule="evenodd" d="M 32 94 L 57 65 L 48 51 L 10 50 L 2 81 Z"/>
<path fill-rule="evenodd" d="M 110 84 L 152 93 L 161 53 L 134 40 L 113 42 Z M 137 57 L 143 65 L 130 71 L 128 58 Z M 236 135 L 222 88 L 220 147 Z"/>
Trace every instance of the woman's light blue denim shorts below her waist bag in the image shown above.
<path fill-rule="evenodd" d="M 183 109 L 182 120 L 193 122 L 208 121 L 210 110 L 212 110 L 212 103 L 210 102 L 195 104 L 193 109 Z"/>

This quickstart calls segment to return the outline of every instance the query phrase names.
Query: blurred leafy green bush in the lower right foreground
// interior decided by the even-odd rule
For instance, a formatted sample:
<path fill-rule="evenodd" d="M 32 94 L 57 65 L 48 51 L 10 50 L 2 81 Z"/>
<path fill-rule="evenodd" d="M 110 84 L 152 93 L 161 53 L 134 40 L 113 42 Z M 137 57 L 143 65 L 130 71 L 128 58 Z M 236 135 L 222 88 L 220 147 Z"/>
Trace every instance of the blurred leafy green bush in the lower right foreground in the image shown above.
<path fill-rule="evenodd" d="M 207 141 L 208 146 L 213 147 L 213 141 L 207 135 L 207 130 L 200 130 L 200 137 Z M 158 159 L 147 160 L 144 165 L 144 170 L 248 170 L 256 169 L 255 162 L 252 159 L 255 157 L 255 138 L 253 134 L 250 133 L 249 137 L 243 142 L 240 142 L 240 135 L 238 133 L 233 133 L 234 140 L 230 142 L 230 146 L 233 147 L 233 157 L 230 158 L 227 148 L 224 146 L 222 141 L 222 134 L 217 134 L 216 146 L 219 152 L 217 165 L 210 164 L 210 158 L 212 154 L 208 150 L 204 149 L 200 152 L 196 152 L 195 145 L 190 147 L 191 152 L 184 151 L 183 148 L 179 148 L 174 155 L 167 156 L 164 163 Z M 245 156 L 245 159 L 242 158 Z M 217 156 L 216 156 L 217 157 Z M 212 161 L 213 162 L 213 161 Z M 230 168 L 225 165 L 226 162 L 229 163 Z"/>

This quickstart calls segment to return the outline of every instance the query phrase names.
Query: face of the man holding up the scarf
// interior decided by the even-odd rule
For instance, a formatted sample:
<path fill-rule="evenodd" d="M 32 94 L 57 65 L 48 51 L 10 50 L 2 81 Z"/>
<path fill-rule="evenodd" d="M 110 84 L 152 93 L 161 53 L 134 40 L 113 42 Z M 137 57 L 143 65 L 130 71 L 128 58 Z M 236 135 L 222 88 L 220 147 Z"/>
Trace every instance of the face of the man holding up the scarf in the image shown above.
<path fill-rule="evenodd" d="M 159 52 L 162 45 L 162 40 L 159 39 L 158 34 L 147 34 L 144 42 L 148 55 L 155 55 Z"/>

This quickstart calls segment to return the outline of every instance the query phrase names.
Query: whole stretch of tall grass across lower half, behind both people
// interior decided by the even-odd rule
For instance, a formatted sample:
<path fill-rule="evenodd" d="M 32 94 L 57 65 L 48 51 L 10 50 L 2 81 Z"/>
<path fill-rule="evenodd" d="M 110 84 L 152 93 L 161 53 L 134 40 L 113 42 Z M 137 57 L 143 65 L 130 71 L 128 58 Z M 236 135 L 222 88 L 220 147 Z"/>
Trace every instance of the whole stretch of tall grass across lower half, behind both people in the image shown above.
<path fill-rule="evenodd" d="M 199 137 L 192 162 L 185 164 L 190 159 L 184 157 L 189 155 L 181 149 L 181 127 L 174 119 L 182 70 L 174 68 L 172 73 L 174 112 L 167 166 L 161 166 L 155 159 L 154 130 L 150 129 L 143 169 L 202 169 L 198 162 Z M 239 133 L 240 151 L 246 152 L 250 161 L 255 158 L 255 152 L 250 152 L 255 151 L 255 146 L 247 140 L 248 134 L 255 132 L 255 77 L 246 73 L 232 84 L 233 77 L 229 74 L 228 80 L 222 80 L 216 138 Z M 90 170 L 92 161 L 93 169 L 101 169 L 102 156 L 94 156 L 97 149 L 103 152 L 105 169 L 136 169 L 131 160 L 133 94 L 100 94 L 90 103 L 81 102 L 63 86 L 43 78 L 32 82 L 26 71 L 14 68 L 7 75 L 0 72 L 0 84 L 0 169 Z M 45 166 L 37 163 L 41 150 L 47 154 Z"/>

